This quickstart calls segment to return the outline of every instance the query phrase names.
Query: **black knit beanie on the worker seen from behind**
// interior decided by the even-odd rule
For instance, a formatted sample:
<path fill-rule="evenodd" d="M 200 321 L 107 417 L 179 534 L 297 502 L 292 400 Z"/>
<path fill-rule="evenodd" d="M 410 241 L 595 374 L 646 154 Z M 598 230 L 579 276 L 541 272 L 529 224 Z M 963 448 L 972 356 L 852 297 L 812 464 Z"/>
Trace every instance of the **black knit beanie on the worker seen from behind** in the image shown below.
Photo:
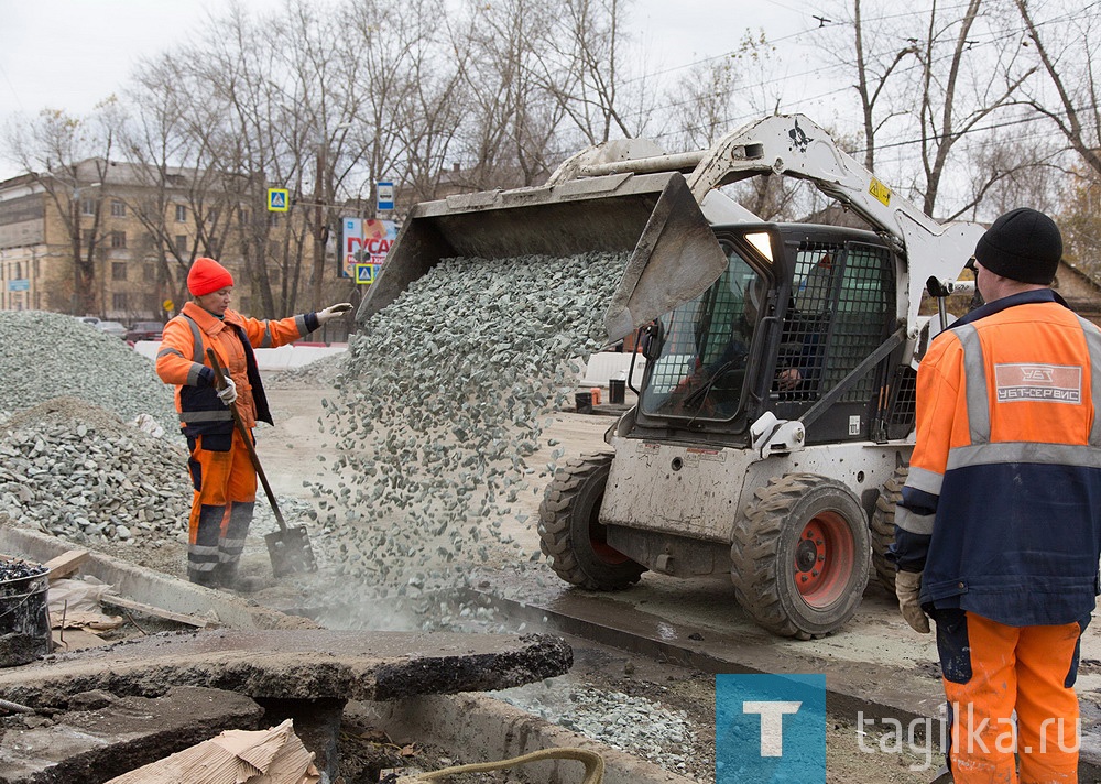
<path fill-rule="evenodd" d="M 1047 285 L 1062 258 L 1062 236 L 1055 221 L 1021 207 L 1000 217 L 979 238 L 974 258 L 995 275 Z"/>

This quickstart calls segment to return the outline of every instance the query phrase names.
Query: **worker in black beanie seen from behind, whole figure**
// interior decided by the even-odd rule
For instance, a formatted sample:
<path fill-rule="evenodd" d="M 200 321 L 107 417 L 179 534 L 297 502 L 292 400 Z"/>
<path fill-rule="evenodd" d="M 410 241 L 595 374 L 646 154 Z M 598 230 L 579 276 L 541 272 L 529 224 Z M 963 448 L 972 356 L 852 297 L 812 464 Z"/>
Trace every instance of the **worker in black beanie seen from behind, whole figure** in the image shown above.
<path fill-rule="evenodd" d="M 1101 330 L 1049 287 L 1055 222 L 1001 216 L 969 266 L 986 304 L 917 372 L 895 515 L 903 617 L 937 624 L 956 784 L 1077 782 L 1075 678 L 1101 557 Z M 1016 712 L 1016 721 L 1013 714 Z"/>

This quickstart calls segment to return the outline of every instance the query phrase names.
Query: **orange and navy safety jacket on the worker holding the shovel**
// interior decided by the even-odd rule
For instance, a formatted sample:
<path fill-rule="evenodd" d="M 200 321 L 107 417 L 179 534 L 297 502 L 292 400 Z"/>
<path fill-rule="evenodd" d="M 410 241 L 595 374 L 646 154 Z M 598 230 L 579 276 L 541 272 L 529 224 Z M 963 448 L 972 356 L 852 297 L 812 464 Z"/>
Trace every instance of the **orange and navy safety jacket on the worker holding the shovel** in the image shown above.
<path fill-rule="evenodd" d="M 258 421 L 272 424 L 252 349 L 284 346 L 317 327 L 314 313 L 269 322 L 226 311 L 218 318 L 194 302 L 185 304 L 179 315 L 164 325 L 156 355 L 157 375 L 176 385 L 176 411 L 184 435 L 227 434 L 233 429 L 229 409 L 218 400 L 207 348 L 214 349 L 222 372 L 228 372 L 237 384 L 237 410 L 246 427 L 251 428 Z"/>

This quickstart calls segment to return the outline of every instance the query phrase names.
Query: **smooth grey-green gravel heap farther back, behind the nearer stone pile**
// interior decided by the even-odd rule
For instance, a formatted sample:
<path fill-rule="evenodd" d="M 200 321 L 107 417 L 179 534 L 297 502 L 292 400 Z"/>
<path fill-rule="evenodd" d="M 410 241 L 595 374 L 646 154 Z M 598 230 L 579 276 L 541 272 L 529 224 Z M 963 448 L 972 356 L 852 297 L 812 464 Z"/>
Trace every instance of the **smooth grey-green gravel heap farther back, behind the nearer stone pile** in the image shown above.
<path fill-rule="evenodd" d="M 156 377 L 153 363 L 72 316 L 0 312 L 0 412 L 70 396 L 127 422 L 148 414 L 165 433 L 179 432 L 173 390 Z"/>

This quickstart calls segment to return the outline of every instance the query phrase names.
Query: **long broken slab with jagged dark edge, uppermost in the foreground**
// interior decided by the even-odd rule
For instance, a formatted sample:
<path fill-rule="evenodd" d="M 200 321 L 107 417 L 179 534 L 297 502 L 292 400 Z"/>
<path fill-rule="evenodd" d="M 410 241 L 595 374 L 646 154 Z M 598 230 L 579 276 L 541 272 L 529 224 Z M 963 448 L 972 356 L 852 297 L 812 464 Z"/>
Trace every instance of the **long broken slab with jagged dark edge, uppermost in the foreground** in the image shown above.
<path fill-rule="evenodd" d="M 166 632 L 0 671 L 0 694 L 22 705 L 106 689 L 160 695 L 171 686 L 268 699 L 391 700 L 501 689 L 563 675 L 573 651 L 545 634 L 427 632 Z"/>

